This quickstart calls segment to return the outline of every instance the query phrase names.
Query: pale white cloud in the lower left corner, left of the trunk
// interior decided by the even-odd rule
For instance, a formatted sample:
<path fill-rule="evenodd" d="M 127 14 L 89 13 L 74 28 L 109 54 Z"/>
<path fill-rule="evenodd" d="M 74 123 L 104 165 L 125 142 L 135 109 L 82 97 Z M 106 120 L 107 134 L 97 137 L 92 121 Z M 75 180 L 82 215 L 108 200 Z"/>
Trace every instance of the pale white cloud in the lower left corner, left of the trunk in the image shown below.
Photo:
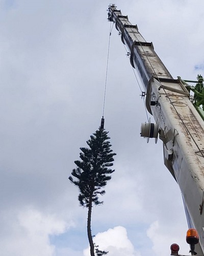
<path fill-rule="evenodd" d="M 49 236 L 63 233 L 72 225 L 30 207 L 7 213 L 4 221 L 10 225 L 3 230 L 0 247 L 1 254 L 7 256 L 53 256 L 55 246 L 50 244 Z"/>

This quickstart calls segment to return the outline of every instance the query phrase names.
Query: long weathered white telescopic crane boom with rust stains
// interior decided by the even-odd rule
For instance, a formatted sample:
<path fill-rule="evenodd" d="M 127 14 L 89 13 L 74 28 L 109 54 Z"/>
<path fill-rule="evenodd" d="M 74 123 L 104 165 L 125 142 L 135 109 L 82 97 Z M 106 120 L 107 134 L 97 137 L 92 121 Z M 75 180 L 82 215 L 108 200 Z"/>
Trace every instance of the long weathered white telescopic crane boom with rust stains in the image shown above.
<path fill-rule="evenodd" d="M 131 65 L 143 81 L 146 108 L 156 122 L 143 124 L 141 136 L 159 135 L 163 141 L 164 164 L 180 186 L 191 219 L 188 223 L 199 234 L 197 252 L 204 255 L 204 121 L 190 100 L 186 83 L 172 78 L 137 25 L 132 25 L 115 5 L 109 6 L 108 19 L 115 23 L 130 51 Z"/>

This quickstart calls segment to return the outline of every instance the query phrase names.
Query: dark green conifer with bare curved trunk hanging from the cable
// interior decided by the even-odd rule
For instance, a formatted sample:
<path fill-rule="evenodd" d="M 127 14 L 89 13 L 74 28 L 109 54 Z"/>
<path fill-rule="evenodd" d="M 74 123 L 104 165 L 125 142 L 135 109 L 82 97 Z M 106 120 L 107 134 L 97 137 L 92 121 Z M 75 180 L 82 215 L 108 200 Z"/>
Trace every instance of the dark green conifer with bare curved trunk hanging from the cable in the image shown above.
<path fill-rule="evenodd" d="M 103 204 L 99 201 L 99 196 L 103 196 L 106 191 L 101 189 L 106 186 L 107 181 L 111 179 L 111 175 L 115 170 L 110 167 L 113 166 L 113 157 L 116 155 L 111 150 L 111 144 L 108 141 L 108 132 L 103 126 L 90 136 L 86 142 L 89 146 L 81 147 L 81 160 L 74 161 L 77 168 L 72 170 L 69 180 L 74 185 L 78 186 L 80 206 L 88 208 L 87 218 L 87 234 L 90 245 L 91 256 L 105 255 L 108 252 L 98 250 L 97 246 L 94 248 L 94 243 L 91 234 L 91 213 L 92 206 Z M 101 254 L 103 253 L 103 254 Z"/>

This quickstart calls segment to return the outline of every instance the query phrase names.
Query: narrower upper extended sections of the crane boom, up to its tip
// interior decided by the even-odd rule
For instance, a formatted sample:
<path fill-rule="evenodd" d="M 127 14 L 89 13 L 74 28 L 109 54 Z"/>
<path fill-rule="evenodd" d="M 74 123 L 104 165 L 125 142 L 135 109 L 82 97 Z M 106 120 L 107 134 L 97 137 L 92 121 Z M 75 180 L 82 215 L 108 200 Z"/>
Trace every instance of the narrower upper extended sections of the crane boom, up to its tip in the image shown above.
<path fill-rule="evenodd" d="M 121 34 L 123 44 L 130 51 L 131 65 L 139 73 L 147 90 L 148 81 L 153 76 L 156 79 L 172 79 L 172 76 L 154 51 L 152 42 L 146 42 L 139 33 L 137 25 L 132 25 L 127 16 L 123 16 L 114 5 L 109 7 L 109 20 L 115 23 Z"/>

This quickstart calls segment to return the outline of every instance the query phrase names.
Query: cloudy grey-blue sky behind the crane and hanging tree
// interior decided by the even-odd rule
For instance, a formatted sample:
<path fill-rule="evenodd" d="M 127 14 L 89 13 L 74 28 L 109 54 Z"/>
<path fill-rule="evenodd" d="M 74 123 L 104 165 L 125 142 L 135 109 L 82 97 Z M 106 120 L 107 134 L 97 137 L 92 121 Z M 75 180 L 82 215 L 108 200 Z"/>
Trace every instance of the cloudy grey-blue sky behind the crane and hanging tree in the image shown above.
<path fill-rule="evenodd" d="M 103 108 L 109 1 L 0 0 L 3 256 L 88 256 L 87 209 L 68 180 Z M 174 78 L 204 75 L 204 2 L 115 2 Z M 140 137 L 147 117 L 113 28 L 105 128 L 117 156 L 92 232 L 110 256 L 188 254 L 180 189 L 162 143 Z M 150 116 L 149 116 L 150 117 Z"/>

